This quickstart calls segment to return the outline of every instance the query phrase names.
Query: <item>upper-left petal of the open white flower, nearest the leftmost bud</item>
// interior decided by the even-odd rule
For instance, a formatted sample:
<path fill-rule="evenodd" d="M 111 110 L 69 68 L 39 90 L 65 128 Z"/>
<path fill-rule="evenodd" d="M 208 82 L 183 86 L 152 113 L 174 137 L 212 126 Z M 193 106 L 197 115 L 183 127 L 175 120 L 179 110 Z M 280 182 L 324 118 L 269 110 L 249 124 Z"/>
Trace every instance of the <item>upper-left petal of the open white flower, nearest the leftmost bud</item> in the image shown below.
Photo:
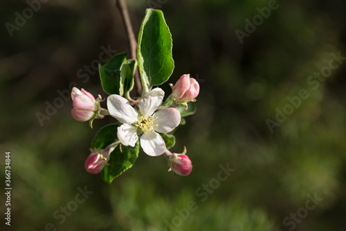
<path fill-rule="evenodd" d="M 120 123 L 131 124 L 137 121 L 138 113 L 129 104 L 127 99 L 117 94 L 111 94 L 107 98 L 109 114 L 118 119 Z"/>

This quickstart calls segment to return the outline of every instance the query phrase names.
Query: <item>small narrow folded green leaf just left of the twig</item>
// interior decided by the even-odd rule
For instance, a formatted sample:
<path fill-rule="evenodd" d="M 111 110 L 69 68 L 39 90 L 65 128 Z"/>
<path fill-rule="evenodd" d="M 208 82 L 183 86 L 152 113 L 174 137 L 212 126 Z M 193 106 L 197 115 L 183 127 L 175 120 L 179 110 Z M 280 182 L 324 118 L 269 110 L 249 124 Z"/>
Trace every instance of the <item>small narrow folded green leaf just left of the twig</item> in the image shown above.
<path fill-rule="evenodd" d="M 129 99 L 129 92 L 134 88 L 134 71 L 136 70 L 136 66 L 136 60 L 126 60 L 121 67 L 120 83 L 122 89 L 124 89 L 123 94 L 125 94 L 125 98 L 127 99 Z M 122 96 L 122 94 L 120 94 L 120 96 Z"/>

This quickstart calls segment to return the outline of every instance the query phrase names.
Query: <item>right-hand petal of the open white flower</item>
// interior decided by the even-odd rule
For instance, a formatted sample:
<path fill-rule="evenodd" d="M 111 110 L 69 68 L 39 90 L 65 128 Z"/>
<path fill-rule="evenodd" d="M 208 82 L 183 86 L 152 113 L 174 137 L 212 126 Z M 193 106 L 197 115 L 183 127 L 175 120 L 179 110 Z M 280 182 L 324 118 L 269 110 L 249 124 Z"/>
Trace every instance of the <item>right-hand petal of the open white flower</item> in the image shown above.
<path fill-rule="evenodd" d="M 176 108 L 164 108 L 153 114 L 153 117 L 157 117 L 153 120 L 154 124 L 157 124 L 157 127 L 154 126 L 154 130 L 162 133 L 172 132 L 181 120 L 180 112 Z"/>

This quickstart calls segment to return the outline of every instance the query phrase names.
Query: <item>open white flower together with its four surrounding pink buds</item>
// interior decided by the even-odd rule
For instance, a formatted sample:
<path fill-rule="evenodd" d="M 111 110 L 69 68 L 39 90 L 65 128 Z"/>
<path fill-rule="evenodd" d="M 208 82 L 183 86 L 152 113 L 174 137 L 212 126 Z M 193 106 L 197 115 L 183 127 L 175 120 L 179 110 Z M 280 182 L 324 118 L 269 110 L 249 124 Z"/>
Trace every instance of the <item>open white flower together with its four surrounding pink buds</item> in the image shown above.
<path fill-rule="evenodd" d="M 164 92 L 160 88 L 152 89 L 147 92 L 140 101 L 137 108 L 132 107 L 129 101 L 122 96 L 112 94 L 107 99 L 107 109 L 101 108 L 102 98 L 99 95 L 97 99 L 84 89 L 73 87 L 71 97 L 73 100 L 73 109 L 71 114 L 76 121 L 89 121 L 92 128 L 93 119 L 102 119 L 104 115 L 111 115 L 118 119 L 121 126 L 118 127 L 118 140 L 109 144 L 104 149 L 91 149 L 91 154 L 86 158 L 84 167 L 88 173 L 98 174 L 105 165 L 109 165 L 109 155 L 118 144 L 125 146 L 134 146 L 140 139 L 140 146 L 147 155 L 157 156 L 164 153 L 167 158 L 168 171 L 174 172 L 174 178 L 179 176 L 188 176 L 192 171 L 192 162 L 183 153 L 171 153 L 166 149 L 165 142 L 157 132 L 171 132 L 179 126 L 181 114 L 176 109 L 179 105 L 185 105 L 188 109 L 188 102 L 196 101 L 199 94 L 199 83 L 189 74 L 184 74 L 172 87 L 173 103 L 170 108 L 159 106 L 163 103 Z"/>

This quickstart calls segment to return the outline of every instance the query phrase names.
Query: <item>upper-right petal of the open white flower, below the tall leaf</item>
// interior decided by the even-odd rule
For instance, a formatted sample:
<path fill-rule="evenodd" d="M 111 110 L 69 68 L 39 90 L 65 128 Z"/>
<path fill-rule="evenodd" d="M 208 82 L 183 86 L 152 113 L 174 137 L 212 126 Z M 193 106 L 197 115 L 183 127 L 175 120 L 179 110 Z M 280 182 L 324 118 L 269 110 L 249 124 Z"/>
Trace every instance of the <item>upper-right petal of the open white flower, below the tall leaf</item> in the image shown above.
<path fill-rule="evenodd" d="M 152 89 L 143 96 L 143 99 L 138 102 L 138 108 L 144 118 L 151 116 L 162 104 L 163 96 L 165 96 L 165 92 L 159 87 Z"/>

